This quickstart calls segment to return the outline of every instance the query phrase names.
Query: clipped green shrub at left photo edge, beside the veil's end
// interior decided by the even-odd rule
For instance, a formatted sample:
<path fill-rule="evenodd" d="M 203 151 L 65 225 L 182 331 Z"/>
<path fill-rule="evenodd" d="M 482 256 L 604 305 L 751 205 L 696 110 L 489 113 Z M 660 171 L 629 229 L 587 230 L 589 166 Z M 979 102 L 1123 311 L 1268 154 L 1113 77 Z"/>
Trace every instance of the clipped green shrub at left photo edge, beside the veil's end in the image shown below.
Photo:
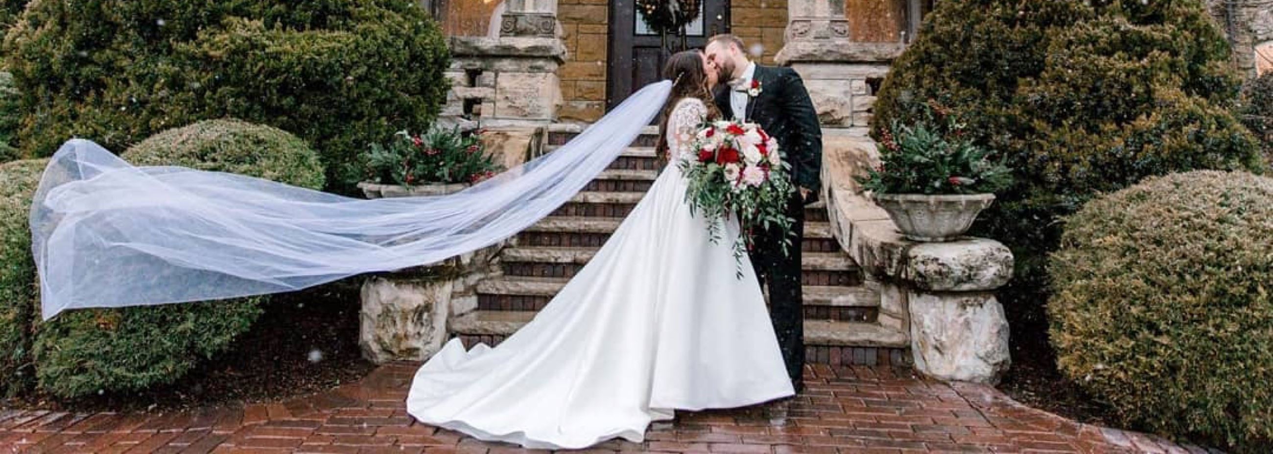
<path fill-rule="evenodd" d="M 0 396 L 29 388 L 36 262 L 31 256 L 31 197 L 47 159 L 0 164 Z"/>

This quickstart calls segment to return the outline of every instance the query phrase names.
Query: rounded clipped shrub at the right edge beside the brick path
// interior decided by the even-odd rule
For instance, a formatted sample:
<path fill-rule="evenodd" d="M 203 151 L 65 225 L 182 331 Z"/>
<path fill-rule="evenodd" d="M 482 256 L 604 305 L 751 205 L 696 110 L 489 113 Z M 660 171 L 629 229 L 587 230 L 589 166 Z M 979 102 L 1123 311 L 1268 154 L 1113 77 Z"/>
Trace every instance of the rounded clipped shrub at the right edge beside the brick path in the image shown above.
<path fill-rule="evenodd" d="M 1051 256 L 1060 370 L 1125 422 L 1273 451 L 1273 178 L 1156 177 L 1094 200 Z"/>

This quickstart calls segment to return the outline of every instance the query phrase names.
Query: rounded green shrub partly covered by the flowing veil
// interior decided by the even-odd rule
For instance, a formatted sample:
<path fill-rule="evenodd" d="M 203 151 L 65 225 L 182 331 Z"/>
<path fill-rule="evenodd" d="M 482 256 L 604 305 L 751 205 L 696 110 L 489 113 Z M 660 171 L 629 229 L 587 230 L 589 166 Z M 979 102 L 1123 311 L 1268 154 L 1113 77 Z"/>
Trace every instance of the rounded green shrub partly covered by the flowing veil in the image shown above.
<path fill-rule="evenodd" d="M 183 165 L 314 189 L 323 186 L 318 156 L 304 141 L 237 120 L 164 131 L 122 158 L 136 165 Z M 28 251 L 29 244 L 28 238 Z M 70 398 L 172 383 L 246 332 L 267 298 L 65 312 L 37 326 L 38 385 Z"/>

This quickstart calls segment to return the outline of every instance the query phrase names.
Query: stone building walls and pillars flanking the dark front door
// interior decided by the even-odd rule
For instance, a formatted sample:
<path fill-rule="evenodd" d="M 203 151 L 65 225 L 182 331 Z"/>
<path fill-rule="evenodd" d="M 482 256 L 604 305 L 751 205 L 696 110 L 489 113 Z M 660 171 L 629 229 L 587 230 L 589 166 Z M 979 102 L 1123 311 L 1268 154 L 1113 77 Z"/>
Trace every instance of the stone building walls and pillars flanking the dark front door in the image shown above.
<path fill-rule="evenodd" d="M 424 4 L 442 20 L 457 57 L 448 116 L 480 116 L 495 126 L 509 120 L 588 123 L 658 80 L 661 61 L 652 52 L 657 38 L 643 31 L 634 0 Z M 704 0 L 703 5 L 704 14 L 687 33 L 690 47 L 701 46 L 710 34 L 733 33 L 760 62 L 805 74 L 824 123 L 862 127 L 889 62 L 914 36 L 932 0 Z M 533 81 L 552 86 L 527 88 Z M 509 100 L 535 104 L 532 93 L 542 106 Z"/>

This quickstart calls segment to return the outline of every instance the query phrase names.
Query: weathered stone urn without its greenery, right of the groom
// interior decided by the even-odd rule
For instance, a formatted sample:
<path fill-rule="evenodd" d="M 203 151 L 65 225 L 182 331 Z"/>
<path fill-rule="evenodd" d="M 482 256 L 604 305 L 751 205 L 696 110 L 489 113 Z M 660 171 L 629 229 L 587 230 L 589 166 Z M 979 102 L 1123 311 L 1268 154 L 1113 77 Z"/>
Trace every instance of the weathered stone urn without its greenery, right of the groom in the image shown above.
<path fill-rule="evenodd" d="M 873 198 L 908 239 L 948 242 L 973 226 L 976 215 L 994 201 L 994 195 L 880 193 Z"/>

